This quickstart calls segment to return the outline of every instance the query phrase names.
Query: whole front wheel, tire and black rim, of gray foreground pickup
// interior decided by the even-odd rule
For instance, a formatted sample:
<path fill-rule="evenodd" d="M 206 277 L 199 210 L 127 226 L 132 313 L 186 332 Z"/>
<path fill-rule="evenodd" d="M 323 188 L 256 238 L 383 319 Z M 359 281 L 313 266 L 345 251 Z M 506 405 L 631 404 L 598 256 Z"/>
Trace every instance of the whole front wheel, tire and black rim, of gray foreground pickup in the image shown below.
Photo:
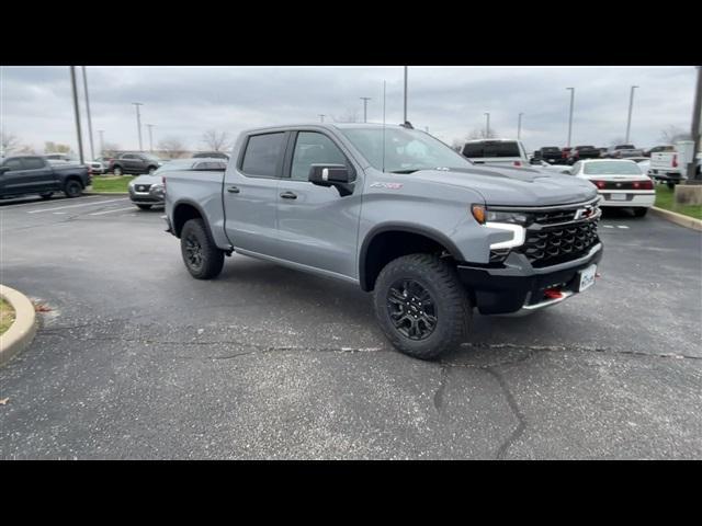
<path fill-rule="evenodd" d="M 472 308 L 455 268 L 431 254 L 390 261 L 373 291 L 381 329 L 400 352 L 437 358 L 467 333 Z"/>

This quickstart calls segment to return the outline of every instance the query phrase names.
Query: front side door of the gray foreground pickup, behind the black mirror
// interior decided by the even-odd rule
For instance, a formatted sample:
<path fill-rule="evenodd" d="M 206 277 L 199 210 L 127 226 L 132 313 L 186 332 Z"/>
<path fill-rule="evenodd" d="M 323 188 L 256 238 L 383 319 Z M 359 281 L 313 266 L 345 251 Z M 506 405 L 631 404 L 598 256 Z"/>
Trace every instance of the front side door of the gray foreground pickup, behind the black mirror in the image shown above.
<path fill-rule="evenodd" d="M 356 278 L 356 243 L 361 214 L 361 171 L 335 139 L 320 132 L 294 132 L 292 153 L 278 186 L 280 256 L 284 260 Z M 353 194 L 308 182 L 312 164 L 346 164 L 359 180 Z"/>

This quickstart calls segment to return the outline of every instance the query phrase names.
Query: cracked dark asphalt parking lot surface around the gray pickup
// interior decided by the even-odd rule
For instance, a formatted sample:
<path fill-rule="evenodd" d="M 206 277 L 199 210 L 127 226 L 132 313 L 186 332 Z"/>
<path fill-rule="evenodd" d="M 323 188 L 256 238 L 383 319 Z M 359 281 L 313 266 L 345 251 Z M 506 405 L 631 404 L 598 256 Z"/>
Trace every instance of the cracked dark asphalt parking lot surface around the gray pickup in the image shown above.
<path fill-rule="evenodd" d="M 702 458 L 700 232 L 608 214 L 593 287 L 426 363 L 353 286 L 192 279 L 161 215 L 0 204 L 0 282 L 50 309 L 0 369 L 1 458 Z"/>

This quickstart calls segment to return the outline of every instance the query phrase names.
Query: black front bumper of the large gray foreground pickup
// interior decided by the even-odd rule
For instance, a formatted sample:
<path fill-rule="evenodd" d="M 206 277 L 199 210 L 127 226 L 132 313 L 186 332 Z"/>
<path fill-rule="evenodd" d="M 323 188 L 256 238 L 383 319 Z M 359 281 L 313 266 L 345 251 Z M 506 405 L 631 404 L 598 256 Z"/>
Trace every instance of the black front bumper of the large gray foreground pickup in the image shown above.
<path fill-rule="evenodd" d="M 602 250 L 602 243 L 598 243 L 578 260 L 543 268 L 534 268 L 528 262 L 513 265 L 509 259 L 499 268 L 462 263 L 457 265 L 458 277 L 482 315 L 529 313 L 577 294 L 578 273 L 599 263 Z M 550 299 L 545 291 L 553 288 L 563 296 Z"/>

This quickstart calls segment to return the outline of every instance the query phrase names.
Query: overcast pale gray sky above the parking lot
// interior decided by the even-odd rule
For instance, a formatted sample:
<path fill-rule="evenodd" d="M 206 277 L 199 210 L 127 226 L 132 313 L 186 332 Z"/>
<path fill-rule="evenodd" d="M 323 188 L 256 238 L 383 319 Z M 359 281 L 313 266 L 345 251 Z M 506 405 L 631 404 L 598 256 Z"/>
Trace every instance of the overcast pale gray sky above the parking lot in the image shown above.
<path fill-rule="evenodd" d="M 81 117 L 86 123 L 82 77 L 77 68 Z M 2 67 L 2 129 L 43 151 L 45 141 L 77 150 L 68 67 Z M 98 129 L 122 149 L 138 148 L 135 107 L 141 102 L 146 124 L 156 125 L 154 142 L 181 139 L 204 148 L 202 134 L 217 129 L 237 135 L 252 126 L 318 122 L 318 114 L 363 118 L 361 96 L 370 96 L 369 122 L 383 121 L 383 81 L 387 81 L 386 119 L 403 119 L 403 67 L 88 67 L 95 150 Z M 693 67 L 410 67 L 408 118 L 415 127 L 451 144 L 475 128 L 517 136 L 524 113 L 526 148 L 565 146 L 569 91 L 576 88 L 573 140 L 609 146 L 624 137 L 630 87 L 636 84 L 631 141 L 648 147 L 670 125 L 689 130 Z M 89 155 L 87 124 L 84 149 Z"/>

